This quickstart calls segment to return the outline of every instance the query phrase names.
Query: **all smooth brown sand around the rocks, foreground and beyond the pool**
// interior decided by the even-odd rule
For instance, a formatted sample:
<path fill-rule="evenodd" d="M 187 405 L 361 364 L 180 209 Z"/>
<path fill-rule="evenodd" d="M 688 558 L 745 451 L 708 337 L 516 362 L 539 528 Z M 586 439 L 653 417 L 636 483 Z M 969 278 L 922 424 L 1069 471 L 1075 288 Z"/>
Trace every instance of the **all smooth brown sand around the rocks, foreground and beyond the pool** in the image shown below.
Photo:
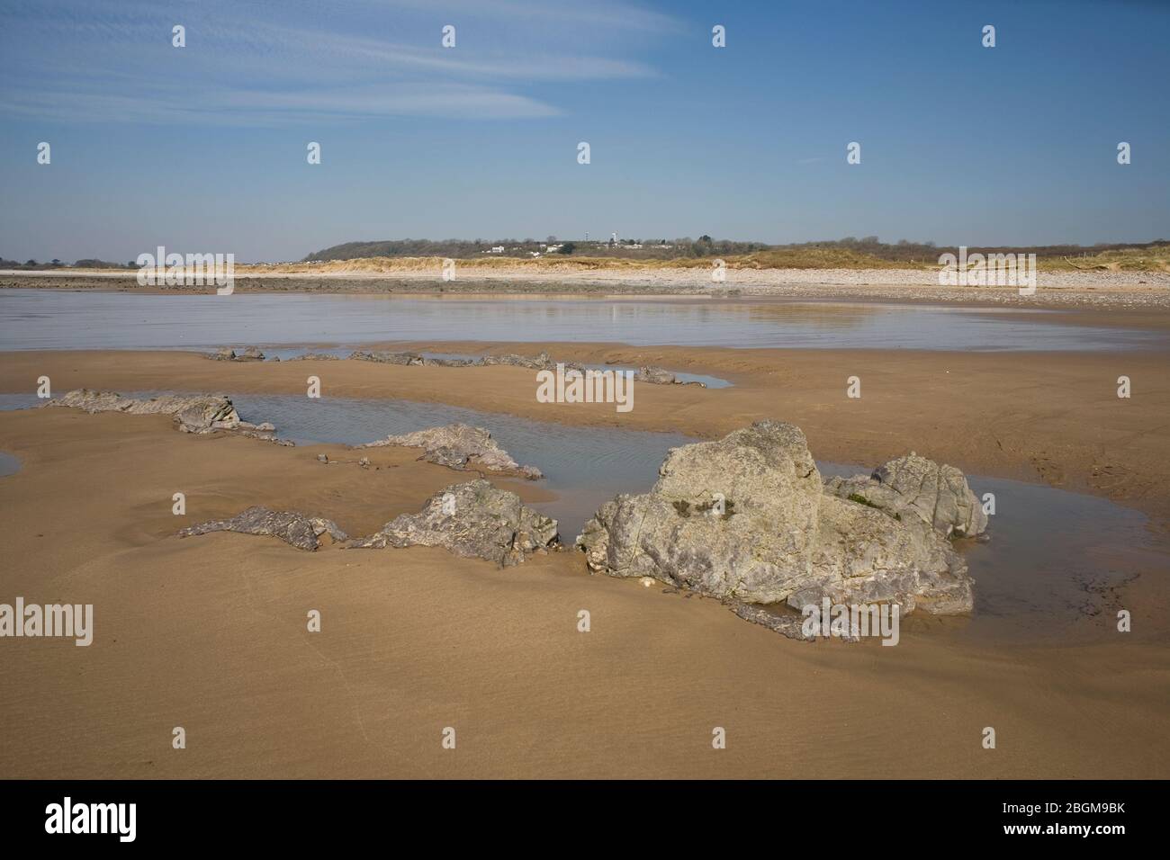
<path fill-rule="evenodd" d="M 452 345 L 447 346 L 466 346 Z M 543 420 L 722 434 L 777 417 L 814 454 L 914 448 L 1108 495 L 1166 522 L 1164 353 L 1124 356 L 493 345 L 655 362 L 727 390 L 636 388 L 634 412 L 537 404 L 531 371 L 225 364 L 174 352 L 6 353 L 0 391 L 70 387 L 438 400 Z M 860 373 L 865 397 L 848 400 Z M 1127 373 L 1135 395 L 1119 400 Z M 262 417 L 255 417 L 262 419 Z M 191 436 L 165 417 L 0 413 L 0 600 L 92 603 L 95 641 L 0 642 L 2 777 L 1166 777 L 1170 601 L 1126 593 L 1115 642 L 996 646 L 911 617 L 894 648 L 807 645 L 713 600 L 587 576 L 573 552 L 510 570 L 441 550 L 295 550 L 183 525 L 250 504 L 365 534 L 466 475 L 373 449 Z M 352 454 L 347 456 L 352 457 Z M 539 484 L 497 481 L 538 502 Z M 171 496 L 187 495 L 187 515 Z M 569 536 L 571 539 L 571 536 Z M 309 633 L 309 610 L 321 633 Z M 577 632 L 589 610 L 592 631 Z M 1102 622 L 1108 622 L 1107 618 Z M 171 748 L 183 725 L 187 749 Z M 454 727 L 457 748 L 441 748 Z M 994 727 L 996 750 L 982 748 Z M 728 748 L 711 749 L 723 727 Z"/>

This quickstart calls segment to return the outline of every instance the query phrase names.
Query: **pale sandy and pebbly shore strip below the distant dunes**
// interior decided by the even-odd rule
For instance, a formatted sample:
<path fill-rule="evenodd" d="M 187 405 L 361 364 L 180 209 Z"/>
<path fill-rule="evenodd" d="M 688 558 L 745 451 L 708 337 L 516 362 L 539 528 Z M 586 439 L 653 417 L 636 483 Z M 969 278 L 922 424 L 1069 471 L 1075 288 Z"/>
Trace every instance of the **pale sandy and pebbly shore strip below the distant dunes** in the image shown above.
<path fill-rule="evenodd" d="M 541 267 L 460 262 L 457 276 L 441 276 L 442 261 L 387 262 L 364 268 L 363 261 L 323 264 L 239 266 L 239 293 L 399 294 L 419 296 L 573 297 L 745 297 L 880 302 L 934 302 L 958 307 L 1141 310 L 1170 312 L 1170 273 L 1040 271 L 1037 291 L 1014 287 L 943 287 L 936 269 L 728 269 L 713 282 L 706 268 L 613 268 L 544 263 Z M 0 270 L 4 289 L 67 289 L 143 294 L 213 294 L 214 285 L 139 284 L 135 273 L 118 270 Z"/>

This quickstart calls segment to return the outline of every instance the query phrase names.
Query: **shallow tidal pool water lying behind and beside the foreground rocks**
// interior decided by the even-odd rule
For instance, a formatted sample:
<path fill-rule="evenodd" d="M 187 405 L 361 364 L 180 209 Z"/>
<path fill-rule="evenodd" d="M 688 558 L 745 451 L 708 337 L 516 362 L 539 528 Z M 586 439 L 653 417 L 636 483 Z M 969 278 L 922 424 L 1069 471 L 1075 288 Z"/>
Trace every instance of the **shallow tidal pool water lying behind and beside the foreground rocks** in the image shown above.
<path fill-rule="evenodd" d="M 150 397 L 160 392 L 125 392 Z M 277 434 L 298 445 L 359 445 L 390 434 L 462 421 L 487 427 L 500 445 L 524 465 L 538 467 L 536 482 L 558 495 L 535 508 L 556 517 L 566 543 L 606 501 L 619 493 L 645 493 L 658 477 L 667 452 L 696 441 L 677 433 L 567 427 L 483 413 L 455 406 L 405 400 L 294 395 L 232 395 L 249 421 L 273 421 Z M 39 405 L 35 395 L 0 395 L 0 410 Z M 823 475 L 867 474 L 872 467 L 818 461 Z M 2 473 L 0 473 L 2 474 Z M 452 470 L 450 481 L 474 473 Z M 1155 543 L 1147 517 L 1095 496 L 1005 479 L 969 475 L 980 498 L 994 495 L 990 539 L 961 541 L 976 580 L 976 611 L 970 619 L 935 619 L 916 613 L 907 629 L 941 626 L 997 641 L 1051 639 L 1079 621 L 1115 629 L 1110 590 L 1137 571 L 1165 569 L 1166 549 Z M 1082 625 L 1083 632 L 1083 625 Z"/>

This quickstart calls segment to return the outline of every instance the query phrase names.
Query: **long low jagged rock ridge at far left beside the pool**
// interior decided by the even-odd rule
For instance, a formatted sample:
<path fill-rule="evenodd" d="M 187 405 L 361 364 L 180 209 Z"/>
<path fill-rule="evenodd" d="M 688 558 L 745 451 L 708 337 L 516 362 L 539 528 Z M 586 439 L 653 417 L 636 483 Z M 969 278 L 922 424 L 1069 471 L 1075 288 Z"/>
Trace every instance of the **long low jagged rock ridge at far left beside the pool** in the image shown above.
<path fill-rule="evenodd" d="M 277 445 L 292 445 L 276 439 L 276 428 L 268 424 L 242 421 L 235 406 L 223 394 L 160 394 L 140 399 L 123 397 L 113 391 L 76 388 L 49 400 L 46 406 L 68 406 L 95 412 L 124 412 L 129 415 L 172 415 L 181 433 L 230 431 Z"/>

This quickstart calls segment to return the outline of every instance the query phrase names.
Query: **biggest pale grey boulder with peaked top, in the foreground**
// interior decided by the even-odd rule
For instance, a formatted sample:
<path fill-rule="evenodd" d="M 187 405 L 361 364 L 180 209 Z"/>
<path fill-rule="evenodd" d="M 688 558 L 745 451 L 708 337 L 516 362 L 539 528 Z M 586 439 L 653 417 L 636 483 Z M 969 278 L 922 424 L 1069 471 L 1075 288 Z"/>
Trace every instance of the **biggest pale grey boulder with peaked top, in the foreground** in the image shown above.
<path fill-rule="evenodd" d="M 804 433 L 778 421 L 674 448 L 648 494 L 604 504 L 577 543 L 593 571 L 729 601 L 971 608 L 941 534 L 825 493 Z"/>

